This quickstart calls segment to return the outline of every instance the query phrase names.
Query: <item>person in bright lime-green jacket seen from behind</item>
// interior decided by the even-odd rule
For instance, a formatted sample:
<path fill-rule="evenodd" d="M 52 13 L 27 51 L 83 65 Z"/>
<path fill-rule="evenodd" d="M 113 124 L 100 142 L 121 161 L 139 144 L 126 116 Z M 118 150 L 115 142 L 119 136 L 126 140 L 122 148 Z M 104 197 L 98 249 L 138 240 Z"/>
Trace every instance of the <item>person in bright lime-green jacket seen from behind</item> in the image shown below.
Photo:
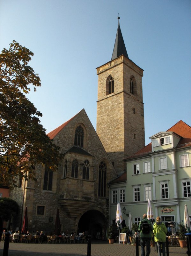
<path fill-rule="evenodd" d="M 155 234 L 155 242 L 157 242 L 158 246 L 158 256 L 161 256 L 161 244 L 162 244 L 162 252 L 163 256 L 165 256 L 165 242 L 166 242 L 166 233 L 167 228 L 163 222 L 161 222 L 160 217 L 157 217 L 157 222 L 153 225 L 154 234 Z"/>

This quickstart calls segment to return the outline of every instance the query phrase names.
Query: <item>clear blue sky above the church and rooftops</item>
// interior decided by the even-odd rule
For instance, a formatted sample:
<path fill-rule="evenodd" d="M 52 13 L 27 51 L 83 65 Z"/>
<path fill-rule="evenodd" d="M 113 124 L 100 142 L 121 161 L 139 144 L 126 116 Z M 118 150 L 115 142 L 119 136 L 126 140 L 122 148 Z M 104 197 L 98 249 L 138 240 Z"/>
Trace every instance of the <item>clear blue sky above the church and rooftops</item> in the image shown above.
<path fill-rule="evenodd" d="M 28 98 L 54 130 L 81 109 L 96 129 L 96 67 L 111 60 L 118 26 L 143 73 L 145 143 L 179 120 L 191 125 L 190 0 L 0 0 L 0 50 L 29 48 L 41 87 Z"/>

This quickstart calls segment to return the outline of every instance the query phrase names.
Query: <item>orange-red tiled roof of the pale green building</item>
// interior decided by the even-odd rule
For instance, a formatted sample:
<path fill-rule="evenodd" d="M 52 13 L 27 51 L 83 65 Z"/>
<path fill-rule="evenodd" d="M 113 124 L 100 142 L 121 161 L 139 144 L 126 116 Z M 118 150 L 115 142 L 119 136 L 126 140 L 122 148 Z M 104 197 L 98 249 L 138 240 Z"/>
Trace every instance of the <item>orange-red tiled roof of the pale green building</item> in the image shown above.
<path fill-rule="evenodd" d="M 191 127 L 180 120 L 178 123 L 174 124 L 170 129 L 166 132 L 173 132 L 181 137 L 176 148 L 183 148 L 187 146 L 191 146 Z M 136 152 L 134 155 L 128 157 L 125 160 L 136 158 L 140 156 L 146 156 L 152 152 L 152 144 L 149 143 L 147 146 Z"/>

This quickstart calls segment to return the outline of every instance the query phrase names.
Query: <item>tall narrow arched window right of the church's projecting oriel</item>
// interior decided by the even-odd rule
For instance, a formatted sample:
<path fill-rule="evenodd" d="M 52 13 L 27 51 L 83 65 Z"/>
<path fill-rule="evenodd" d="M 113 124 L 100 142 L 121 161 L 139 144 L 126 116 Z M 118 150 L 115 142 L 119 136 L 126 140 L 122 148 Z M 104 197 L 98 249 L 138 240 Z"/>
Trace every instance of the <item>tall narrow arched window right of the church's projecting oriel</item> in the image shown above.
<path fill-rule="evenodd" d="M 106 196 L 106 170 L 106 163 L 101 162 L 99 164 L 98 196 Z"/>

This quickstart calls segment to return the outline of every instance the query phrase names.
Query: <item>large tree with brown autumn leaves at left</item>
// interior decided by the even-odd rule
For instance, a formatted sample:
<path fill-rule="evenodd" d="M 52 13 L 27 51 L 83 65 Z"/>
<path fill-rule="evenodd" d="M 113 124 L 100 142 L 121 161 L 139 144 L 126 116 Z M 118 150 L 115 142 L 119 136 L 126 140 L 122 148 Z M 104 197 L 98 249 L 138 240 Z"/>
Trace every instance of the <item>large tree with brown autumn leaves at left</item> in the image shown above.
<path fill-rule="evenodd" d="M 28 65 L 33 52 L 16 41 L 0 54 L 0 184 L 16 186 L 16 177 L 35 179 L 35 165 L 55 171 L 59 148 L 40 124 L 42 114 L 26 95 L 41 86 Z"/>

